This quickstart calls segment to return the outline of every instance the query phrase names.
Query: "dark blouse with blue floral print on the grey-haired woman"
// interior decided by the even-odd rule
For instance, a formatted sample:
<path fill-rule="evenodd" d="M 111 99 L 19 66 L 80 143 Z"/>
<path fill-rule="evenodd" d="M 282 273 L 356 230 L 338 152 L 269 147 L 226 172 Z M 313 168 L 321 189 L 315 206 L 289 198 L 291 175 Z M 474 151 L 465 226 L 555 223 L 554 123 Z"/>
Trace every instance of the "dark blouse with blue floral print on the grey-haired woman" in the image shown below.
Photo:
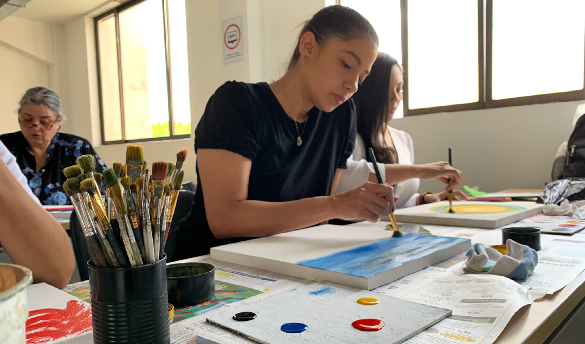
<path fill-rule="evenodd" d="M 0 140 L 16 157 L 18 166 L 28 180 L 30 190 L 39 198 L 41 204 L 71 204 L 62 187 L 67 179 L 63 174 L 63 168 L 74 165 L 78 157 L 85 154 L 95 156 L 97 161 L 95 172 L 102 173 L 107 168 L 90 142 L 83 137 L 57 132 L 47 148 L 47 162 L 39 173 L 36 173 L 35 156 L 30 154 L 29 144 L 22 132 L 0 135 Z"/>

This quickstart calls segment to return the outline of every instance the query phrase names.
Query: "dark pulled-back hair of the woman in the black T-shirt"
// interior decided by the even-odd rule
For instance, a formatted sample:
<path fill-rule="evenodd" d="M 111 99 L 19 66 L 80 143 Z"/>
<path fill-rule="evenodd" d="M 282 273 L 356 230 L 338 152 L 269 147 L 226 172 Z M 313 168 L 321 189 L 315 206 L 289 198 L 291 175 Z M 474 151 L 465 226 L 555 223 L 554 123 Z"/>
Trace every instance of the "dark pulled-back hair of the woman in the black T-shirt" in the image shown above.
<path fill-rule="evenodd" d="M 301 37 L 305 32 L 312 32 L 315 35 L 315 41 L 319 44 L 323 44 L 332 38 L 349 40 L 356 37 L 367 37 L 378 46 L 376 30 L 355 9 L 341 5 L 327 6 L 315 13 L 302 27 L 301 33 L 298 35 L 297 46 L 295 46 L 291 61 L 288 64 L 288 70 L 291 70 L 301 58 L 299 48 Z"/>

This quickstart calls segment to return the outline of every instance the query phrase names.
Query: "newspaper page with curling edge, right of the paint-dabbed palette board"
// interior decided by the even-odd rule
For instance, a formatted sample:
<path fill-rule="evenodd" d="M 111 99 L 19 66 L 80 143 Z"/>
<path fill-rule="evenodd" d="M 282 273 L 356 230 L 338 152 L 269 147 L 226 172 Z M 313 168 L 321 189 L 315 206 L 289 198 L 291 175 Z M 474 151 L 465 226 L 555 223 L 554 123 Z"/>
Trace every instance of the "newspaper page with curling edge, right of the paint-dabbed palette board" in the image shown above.
<path fill-rule="evenodd" d="M 453 314 L 404 342 L 408 344 L 491 344 L 504 331 L 512 315 L 532 303 L 526 288 L 503 276 L 416 275 L 403 277 L 374 291 L 452 309 Z"/>

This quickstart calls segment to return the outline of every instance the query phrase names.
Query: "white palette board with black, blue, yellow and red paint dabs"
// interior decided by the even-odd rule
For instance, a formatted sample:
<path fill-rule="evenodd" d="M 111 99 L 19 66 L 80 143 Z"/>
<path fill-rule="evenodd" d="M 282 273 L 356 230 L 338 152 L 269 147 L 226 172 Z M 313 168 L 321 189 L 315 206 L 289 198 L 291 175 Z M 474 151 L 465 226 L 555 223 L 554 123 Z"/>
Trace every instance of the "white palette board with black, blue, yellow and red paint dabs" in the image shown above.
<path fill-rule="evenodd" d="M 380 304 L 362 305 L 362 297 L 377 298 Z M 235 321 L 238 312 L 254 312 L 256 319 Z M 402 343 L 449 317 L 450 309 L 401 300 L 371 291 L 333 283 L 314 283 L 254 304 L 207 318 L 211 324 L 263 344 L 284 343 Z M 378 319 L 386 325 L 380 331 L 353 328 L 359 319 Z M 285 333 L 280 326 L 300 322 L 308 326 L 301 333 Z"/>

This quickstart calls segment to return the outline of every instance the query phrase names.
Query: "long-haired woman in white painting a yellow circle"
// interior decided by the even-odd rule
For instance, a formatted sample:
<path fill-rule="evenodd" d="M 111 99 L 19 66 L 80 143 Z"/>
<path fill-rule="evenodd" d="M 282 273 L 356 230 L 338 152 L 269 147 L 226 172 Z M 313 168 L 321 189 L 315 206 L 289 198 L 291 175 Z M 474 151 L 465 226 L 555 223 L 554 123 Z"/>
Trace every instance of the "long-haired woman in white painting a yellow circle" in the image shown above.
<path fill-rule="evenodd" d="M 377 182 L 373 165 L 367 160 L 366 150 L 370 147 L 374 150 L 382 179 L 386 184 L 394 185 L 394 195 L 398 197 L 396 208 L 443 201 L 448 191 L 461 181 L 461 171 L 445 161 L 415 165 L 412 137 L 389 125 L 402 101 L 403 84 L 398 61 L 388 54 L 379 53 L 370 75 L 352 97 L 357 114 L 356 144 L 336 192 L 352 190 L 367 181 Z M 445 191 L 419 194 L 420 179 L 440 180 L 446 184 Z M 453 190 L 453 194 L 465 198 L 459 190 Z"/>

